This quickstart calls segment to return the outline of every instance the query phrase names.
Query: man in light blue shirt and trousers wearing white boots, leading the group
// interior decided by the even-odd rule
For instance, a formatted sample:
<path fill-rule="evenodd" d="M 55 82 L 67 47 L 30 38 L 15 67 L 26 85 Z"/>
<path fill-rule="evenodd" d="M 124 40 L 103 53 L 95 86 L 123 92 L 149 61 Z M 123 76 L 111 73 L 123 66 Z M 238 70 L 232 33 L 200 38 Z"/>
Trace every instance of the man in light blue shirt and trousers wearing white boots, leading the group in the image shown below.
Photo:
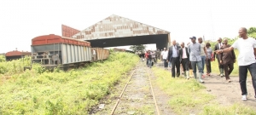
<path fill-rule="evenodd" d="M 201 63 L 201 44 L 196 43 L 195 39 L 196 37 L 189 37 L 191 39 L 191 42 L 189 44 L 189 60 L 191 61 L 191 66 L 193 68 L 193 73 L 195 79 L 197 79 L 196 76 L 196 66 L 198 67 L 199 71 L 199 82 L 204 83 L 204 81 L 201 79 L 201 74 L 202 74 L 202 63 Z"/>

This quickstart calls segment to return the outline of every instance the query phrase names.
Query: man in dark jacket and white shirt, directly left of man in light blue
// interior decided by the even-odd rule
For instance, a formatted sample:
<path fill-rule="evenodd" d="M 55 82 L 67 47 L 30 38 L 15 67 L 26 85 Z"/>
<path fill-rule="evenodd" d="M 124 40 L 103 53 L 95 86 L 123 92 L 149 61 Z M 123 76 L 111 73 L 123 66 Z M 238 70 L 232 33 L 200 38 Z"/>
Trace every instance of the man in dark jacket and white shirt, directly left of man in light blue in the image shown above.
<path fill-rule="evenodd" d="M 189 50 L 187 47 L 185 47 L 185 44 L 182 42 L 181 49 L 178 49 L 179 51 L 179 60 L 182 63 L 183 71 L 184 71 L 184 77 L 189 79 Z"/>

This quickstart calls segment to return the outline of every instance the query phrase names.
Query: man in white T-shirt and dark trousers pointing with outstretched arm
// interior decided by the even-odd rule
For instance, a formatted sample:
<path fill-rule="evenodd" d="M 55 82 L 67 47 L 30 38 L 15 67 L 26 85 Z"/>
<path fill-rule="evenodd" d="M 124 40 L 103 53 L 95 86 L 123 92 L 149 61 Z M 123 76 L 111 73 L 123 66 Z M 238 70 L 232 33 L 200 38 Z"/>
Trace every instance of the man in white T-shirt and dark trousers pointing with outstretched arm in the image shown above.
<path fill-rule="evenodd" d="M 233 49 L 239 50 L 238 66 L 239 66 L 239 83 L 241 86 L 241 100 L 247 101 L 247 70 L 251 73 L 254 98 L 256 99 L 256 40 L 252 37 L 247 37 L 247 29 L 241 27 L 239 36 L 235 43 L 230 48 L 217 50 L 216 53 L 229 52 Z"/>

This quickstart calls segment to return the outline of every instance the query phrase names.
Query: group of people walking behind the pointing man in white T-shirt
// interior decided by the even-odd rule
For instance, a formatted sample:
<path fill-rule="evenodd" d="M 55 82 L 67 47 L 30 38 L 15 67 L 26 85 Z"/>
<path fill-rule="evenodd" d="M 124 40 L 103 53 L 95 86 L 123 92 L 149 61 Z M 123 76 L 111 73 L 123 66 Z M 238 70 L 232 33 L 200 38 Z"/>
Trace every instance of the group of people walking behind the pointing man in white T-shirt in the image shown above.
<path fill-rule="evenodd" d="M 211 61 L 218 60 L 219 76 L 226 78 L 227 82 L 230 83 L 230 73 L 234 69 L 234 63 L 236 62 L 236 55 L 234 50 L 229 53 L 216 54 L 215 51 L 219 49 L 226 49 L 230 47 L 228 44 L 228 39 L 224 39 L 222 43 L 222 38 L 218 38 L 218 43 L 212 51 L 210 43 L 203 43 L 202 38 L 198 37 L 198 42 L 196 42 L 196 37 L 189 37 L 191 43 L 185 44 L 182 42 L 181 45 L 177 45 L 176 40 L 172 41 L 172 46 L 166 51 L 161 53 L 165 63 L 165 68 L 167 68 L 167 63 L 172 63 L 172 78 L 179 77 L 180 71 L 183 69 L 184 77 L 189 79 L 193 76 L 198 79 L 200 83 L 204 83 L 202 78 L 206 76 L 211 76 L 212 66 Z M 165 55 L 165 56 L 164 56 Z M 180 65 L 182 67 L 180 67 Z M 204 68 L 207 68 L 207 74 L 204 74 Z M 189 70 L 193 70 L 193 75 L 189 76 Z M 198 74 L 197 74 L 198 70 Z M 175 72 L 176 71 L 176 72 Z M 225 73 L 225 74 L 224 74 Z"/>

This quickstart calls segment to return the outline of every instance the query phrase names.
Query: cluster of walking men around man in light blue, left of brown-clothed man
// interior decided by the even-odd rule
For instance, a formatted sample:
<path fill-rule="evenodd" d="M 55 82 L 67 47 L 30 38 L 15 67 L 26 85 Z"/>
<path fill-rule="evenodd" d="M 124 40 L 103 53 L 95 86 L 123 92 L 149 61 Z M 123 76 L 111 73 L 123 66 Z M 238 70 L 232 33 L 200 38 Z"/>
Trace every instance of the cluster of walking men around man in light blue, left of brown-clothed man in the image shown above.
<path fill-rule="evenodd" d="M 198 38 L 198 43 L 196 43 L 196 37 L 189 37 L 191 39 L 191 44 L 188 43 L 188 47 L 182 42 L 181 45 L 177 45 L 176 40 L 172 41 L 172 46 L 168 49 L 168 52 L 162 53 L 165 67 L 167 68 L 167 63 L 170 61 L 172 63 L 172 78 L 180 76 L 180 65 L 183 68 L 184 77 L 189 79 L 189 70 L 193 69 L 194 78 L 199 79 L 201 83 L 204 83 L 201 77 L 203 75 L 203 68 L 207 62 L 207 75 L 211 73 L 211 58 L 212 49 L 209 47 L 210 43 L 202 42 L 202 38 Z M 208 49 L 208 52 L 207 52 Z M 197 76 L 196 66 L 199 70 L 199 76 Z M 175 72 L 176 71 L 176 72 Z"/>

